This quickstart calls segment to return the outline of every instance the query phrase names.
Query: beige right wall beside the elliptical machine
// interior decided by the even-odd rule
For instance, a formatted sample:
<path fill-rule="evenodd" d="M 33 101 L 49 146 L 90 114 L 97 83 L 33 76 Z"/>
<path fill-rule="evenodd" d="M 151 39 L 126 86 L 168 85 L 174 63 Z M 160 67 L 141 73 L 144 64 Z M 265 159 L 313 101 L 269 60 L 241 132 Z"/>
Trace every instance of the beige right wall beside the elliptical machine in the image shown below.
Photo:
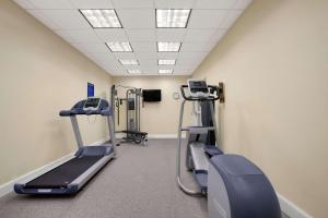
<path fill-rule="evenodd" d="M 328 214 L 328 1 L 255 0 L 194 77 L 225 83 L 223 146 Z"/>

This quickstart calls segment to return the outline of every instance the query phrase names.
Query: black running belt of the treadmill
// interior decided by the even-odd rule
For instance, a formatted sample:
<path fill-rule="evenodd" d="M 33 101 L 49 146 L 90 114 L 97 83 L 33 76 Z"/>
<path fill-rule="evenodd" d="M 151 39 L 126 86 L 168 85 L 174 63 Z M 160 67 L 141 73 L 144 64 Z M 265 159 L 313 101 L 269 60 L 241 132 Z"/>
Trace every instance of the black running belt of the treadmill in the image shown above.
<path fill-rule="evenodd" d="M 26 183 L 25 189 L 67 187 L 68 184 L 103 157 L 104 156 L 74 157 L 49 172 L 30 181 Z"/>

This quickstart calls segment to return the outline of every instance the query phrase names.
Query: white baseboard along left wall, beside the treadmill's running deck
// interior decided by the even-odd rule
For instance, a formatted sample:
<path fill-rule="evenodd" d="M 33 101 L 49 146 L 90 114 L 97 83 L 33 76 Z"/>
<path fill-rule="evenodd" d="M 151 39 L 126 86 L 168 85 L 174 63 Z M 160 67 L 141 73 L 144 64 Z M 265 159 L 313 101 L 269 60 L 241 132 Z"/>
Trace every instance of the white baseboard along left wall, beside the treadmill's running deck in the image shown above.
<path fill-rule="evenodd" d="M 49 162 L 48 165 L 45 165 L 43 167 L 39 167 L 35 170 L 32 170 L 31 172 L 27 172 L 26 174 L 23 174 L 16 179 L 13 179 L 4 184 L 0 185 L 0 197 L 11 193 L 13 191 L 13 185 L 15 183 L 24 183 L 25 181 L 30 181 L 33 180 L 39 175 L 42 175 L 43 173 L 56 168 L 57 166 L 68 161 L 69 159 L 71 159 L 73 157 L 74 153 L 71 153 L 65 157 L 61 157 L 52 162 Z"/>

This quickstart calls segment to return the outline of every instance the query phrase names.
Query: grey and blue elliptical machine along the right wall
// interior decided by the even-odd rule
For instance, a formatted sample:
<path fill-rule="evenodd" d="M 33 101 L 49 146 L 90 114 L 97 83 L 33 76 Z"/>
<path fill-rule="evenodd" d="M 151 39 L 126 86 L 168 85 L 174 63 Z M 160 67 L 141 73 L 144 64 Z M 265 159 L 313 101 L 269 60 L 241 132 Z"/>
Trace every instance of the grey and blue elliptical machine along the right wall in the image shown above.
<path fill-rule="evenodd" d="M 224 154 L 219 148 L 214 102 L 223 98 L 222 87 L 207 85 L 204 80 L 189 80 L 180 90 L 184 100 L 176 175 L 180 190 L 188 195 L 207 196 L 210 218 L 281 218 L 277 194 L 265 173 L 247 158 Z M 201 122 L 196 126 L 183 128 L 187 101 L 197 102 L 201 108 Z M 187 187 L 181 181 L 183 132 L 187 133 L 186 168 L 192 171 L 198 190 Z"/>

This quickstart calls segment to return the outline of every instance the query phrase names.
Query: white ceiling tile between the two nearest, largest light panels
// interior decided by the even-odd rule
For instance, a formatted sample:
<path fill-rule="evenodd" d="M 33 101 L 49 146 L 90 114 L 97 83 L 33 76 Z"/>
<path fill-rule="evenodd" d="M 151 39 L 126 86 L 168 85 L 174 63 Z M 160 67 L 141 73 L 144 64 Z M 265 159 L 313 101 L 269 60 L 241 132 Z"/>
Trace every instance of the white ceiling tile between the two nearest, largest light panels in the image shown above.
<path fill-rule="evenodd" d="M 155 27 L 155 10 L 154 9 L 140 9 L 116 10 L 118 19 L 125 28 L 154 28 Z"/>

